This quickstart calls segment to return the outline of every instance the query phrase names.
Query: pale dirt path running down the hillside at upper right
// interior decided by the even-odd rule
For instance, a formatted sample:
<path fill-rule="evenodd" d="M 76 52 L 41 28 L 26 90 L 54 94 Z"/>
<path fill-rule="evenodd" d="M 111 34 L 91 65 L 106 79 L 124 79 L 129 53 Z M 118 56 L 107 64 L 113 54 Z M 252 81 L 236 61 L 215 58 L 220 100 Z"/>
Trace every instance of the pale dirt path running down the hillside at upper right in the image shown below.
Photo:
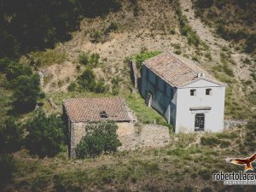
<path fill-rule="evenodd" d="M 217 35 L 212 31 L 212 28 L 203 24 L 199 18 L 195 18 L 195 11 L 192 9 L 191 0 L 180 0 L 179 2 L 183 15 L 185 15 L 189 20 L 189 26 L 191 26 L 192 29 L 197 32 L 201 40 L 206 42 L 210 47 L 213 60 L 219 62 L 220 58 L 218 55 L 223 51 L 222 48 L 226 47 L 230 49 L 230 43 L 225 41 L 223 38 L 217 37 Z M 249 67 L 242 63 L 242 60 L 249 56 L 239 53 L 233 48 L 231 48 L 230 51 L 232 52 L 231 58 L 236 63 L 236 66 L 233 67 L 236 79 L 250 79 L 251 72 L 249 71 Z"/>

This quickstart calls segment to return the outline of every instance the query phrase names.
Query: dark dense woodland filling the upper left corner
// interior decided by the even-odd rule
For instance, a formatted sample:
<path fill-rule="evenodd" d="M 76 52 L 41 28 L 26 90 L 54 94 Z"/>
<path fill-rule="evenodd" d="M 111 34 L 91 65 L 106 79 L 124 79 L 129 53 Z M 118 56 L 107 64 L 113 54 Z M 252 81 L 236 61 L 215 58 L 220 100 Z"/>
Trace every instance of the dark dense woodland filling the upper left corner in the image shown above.
<path fill-rule="evenodd" d="M 0 50 L 0 57 L 17 58 L 31 51 L 53 48 L 56 42 L 71 38 L 83 16 L 103 16 L 120 7 L 117 0 L 3 1 L 0 44 L 6 46 Z"/>

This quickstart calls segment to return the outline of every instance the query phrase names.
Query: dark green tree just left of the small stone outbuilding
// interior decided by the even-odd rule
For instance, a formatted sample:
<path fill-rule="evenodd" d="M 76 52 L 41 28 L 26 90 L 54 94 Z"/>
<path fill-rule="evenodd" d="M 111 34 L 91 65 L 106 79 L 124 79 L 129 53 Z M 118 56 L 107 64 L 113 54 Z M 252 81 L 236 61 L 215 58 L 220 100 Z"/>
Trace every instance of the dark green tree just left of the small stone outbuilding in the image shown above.
<path fill-rule="evenodd" d="M 64 143 L 64 126 L 61 118 L 54 114 L 46 116 L 39 110 L 26 123 L 26 148 L 39 157 L 53 157 L 61 151 Z"/>

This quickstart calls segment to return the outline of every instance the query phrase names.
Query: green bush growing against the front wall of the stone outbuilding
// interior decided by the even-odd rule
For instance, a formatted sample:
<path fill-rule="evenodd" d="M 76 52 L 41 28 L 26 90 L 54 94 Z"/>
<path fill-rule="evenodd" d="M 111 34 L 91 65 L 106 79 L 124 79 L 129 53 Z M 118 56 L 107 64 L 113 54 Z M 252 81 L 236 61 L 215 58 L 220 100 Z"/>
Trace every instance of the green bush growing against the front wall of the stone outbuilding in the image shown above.
<path fill-rule="evenodd" d="M 86 135 L 76 148 L 78 158 L 95 157 L 102 153 L 113 153 L 121 145 L 114 122 L 86 125 Z"/>

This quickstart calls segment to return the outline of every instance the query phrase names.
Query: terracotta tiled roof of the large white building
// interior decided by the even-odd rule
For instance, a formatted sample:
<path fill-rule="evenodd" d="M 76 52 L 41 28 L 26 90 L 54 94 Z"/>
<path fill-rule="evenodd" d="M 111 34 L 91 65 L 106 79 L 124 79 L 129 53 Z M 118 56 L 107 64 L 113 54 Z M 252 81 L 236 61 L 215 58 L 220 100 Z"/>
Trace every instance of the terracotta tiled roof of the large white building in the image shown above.
<path fill-rule="evenodd" d="M 198 79 L 198 73 L 205 73 L 205 78 L 203 79 L 210 80 L 216 84 L 222 84 L 195 62 L 189 61 L 178 55 L 173 55 L 170 52 L 156 55 L 153 58 L 144 61 L 143 64 L 167 83 L 176 87 L 182 87 L 195 81 Z"/>

